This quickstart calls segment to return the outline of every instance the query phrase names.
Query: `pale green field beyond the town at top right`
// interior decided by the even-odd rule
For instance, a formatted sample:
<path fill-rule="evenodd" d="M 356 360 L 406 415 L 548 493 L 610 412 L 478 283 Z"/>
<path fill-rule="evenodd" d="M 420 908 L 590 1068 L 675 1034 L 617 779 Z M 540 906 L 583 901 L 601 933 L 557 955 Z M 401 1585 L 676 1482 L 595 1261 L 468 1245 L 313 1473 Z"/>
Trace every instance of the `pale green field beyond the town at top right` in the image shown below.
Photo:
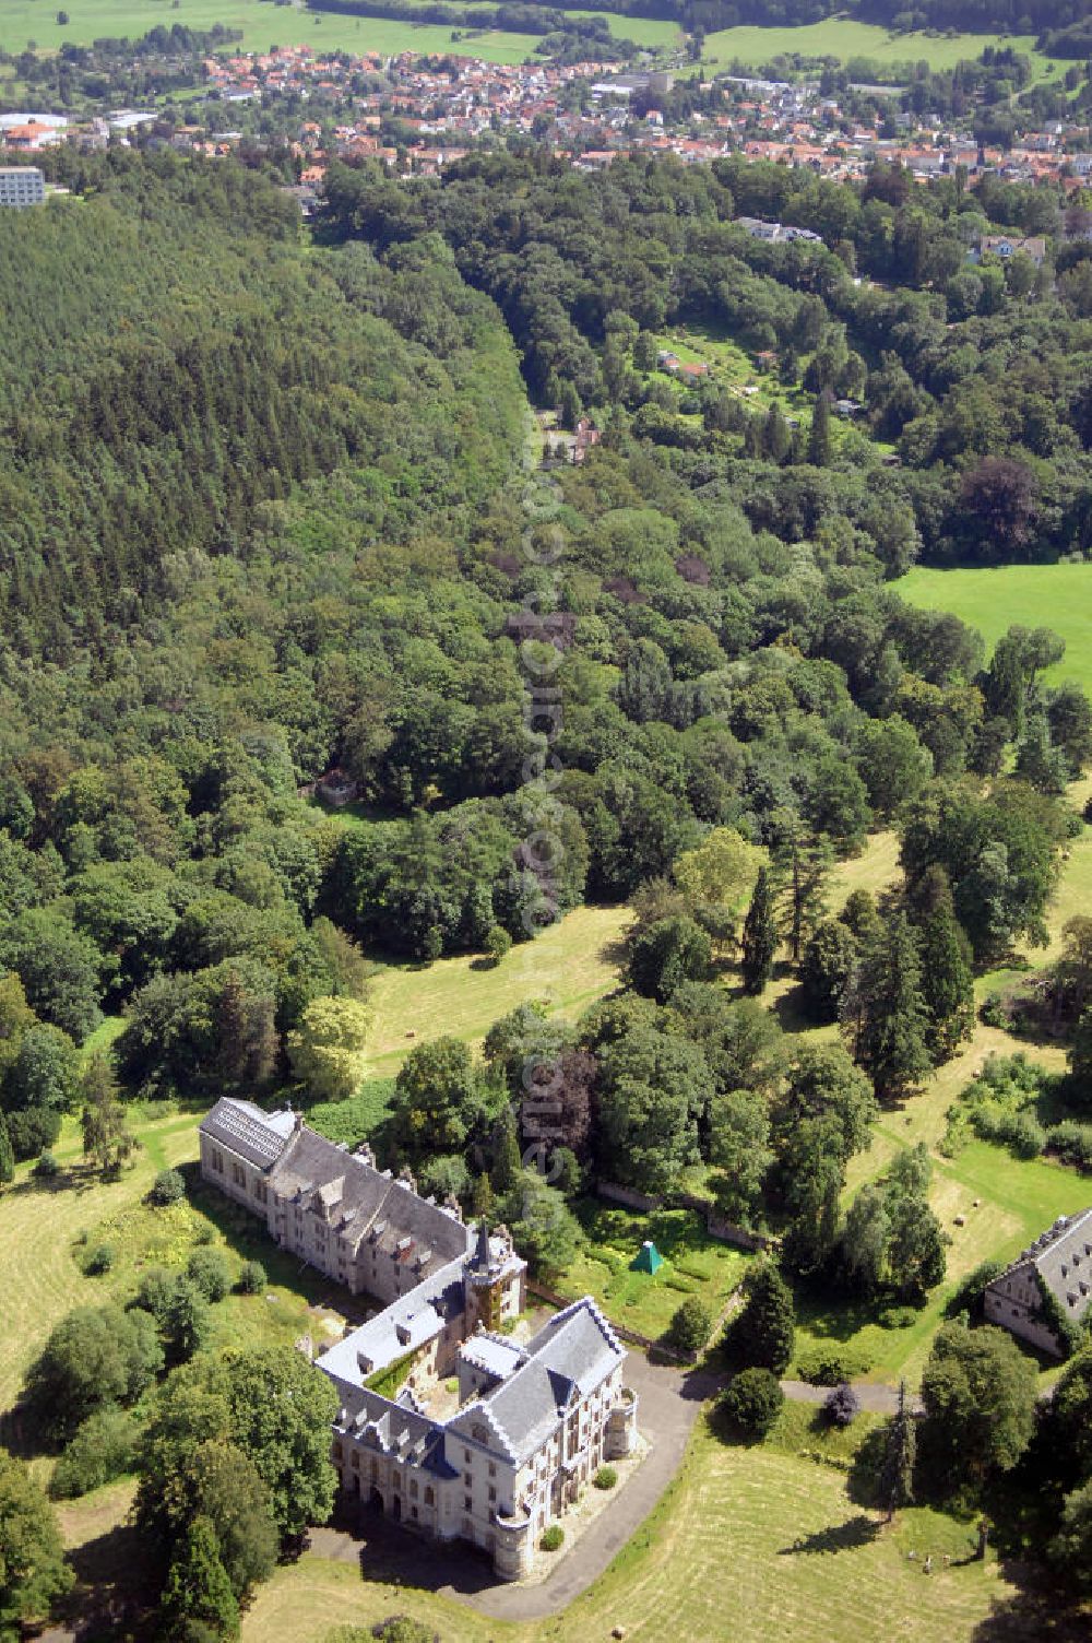
<path fill-rule="evenodd" d="M 1036 67 L 1036 77 L 1051 69 L 1051 59 L 1035 51 L 1033 35 L 893 35 L 875 23 L 854 23 L 846 18 L 826 18 L 803 28 L 723 28 L 706 35 L 701 62 L 706 69 L 727 66 L 739 59 L 749 67 L 759 67 L 782 53 L 800 51 L 805 56 L 872 58 L 874 62 L 928 62 L 931 69 L 951 69 L 961 59 L 977 58 L 985 46 L 1016 46 L 1026 53 Z"/>

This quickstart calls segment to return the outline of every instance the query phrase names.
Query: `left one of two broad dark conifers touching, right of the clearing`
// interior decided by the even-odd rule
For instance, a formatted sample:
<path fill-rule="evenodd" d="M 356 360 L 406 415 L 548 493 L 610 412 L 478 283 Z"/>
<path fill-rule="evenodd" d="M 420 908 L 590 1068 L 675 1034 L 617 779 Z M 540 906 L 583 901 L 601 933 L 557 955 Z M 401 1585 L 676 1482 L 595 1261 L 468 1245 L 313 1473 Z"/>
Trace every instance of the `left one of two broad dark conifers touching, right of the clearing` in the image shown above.
<path fill-rule="evenodd" d="M 880 1101 L 898 1099 L 933 1066 L 921 960 L 905 914 L 890 920 L 862 966 L 860 1014 L 857 1060 Z"/>

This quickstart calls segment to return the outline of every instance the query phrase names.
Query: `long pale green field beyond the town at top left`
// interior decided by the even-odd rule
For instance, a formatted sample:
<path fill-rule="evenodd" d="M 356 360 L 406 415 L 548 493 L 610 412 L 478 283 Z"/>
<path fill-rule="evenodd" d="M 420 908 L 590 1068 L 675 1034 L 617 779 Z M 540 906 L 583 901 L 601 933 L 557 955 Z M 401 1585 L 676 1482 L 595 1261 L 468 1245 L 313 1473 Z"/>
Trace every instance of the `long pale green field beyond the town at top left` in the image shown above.
<path fill-rule="evenodd" d="M 461 31 L 460 39 L 442 23 L 396 21 L 374 16 L 337 16 L 307 12 L 301 5 L 279 7 L 269 0 L 72 0 L 67 25 L 57 23 L 56 7 L 48 0 L 0 0 L 0 48 L 23 51 L 30 41 L 43 49 L 56 49 L 71 41 L 89 44 L 103 35 L 130 36 L 148 33 L 158 23 L 189 28 L 212 28 L 225 23 L 241 28 L 241 46 L 266 51 L 269 46 L 328 46 L 332 51 L 460 51 L 488 62 L 522 62 L 539 44 L 535 35 L 511 35 L 489 30 L 481 35 Z M 575 16 L 603 13 L 575 10 Z M 650 49 L 672 46 L 678 28 L 655 18 L 608 16 L 611 33 L 635 39 Z"/>

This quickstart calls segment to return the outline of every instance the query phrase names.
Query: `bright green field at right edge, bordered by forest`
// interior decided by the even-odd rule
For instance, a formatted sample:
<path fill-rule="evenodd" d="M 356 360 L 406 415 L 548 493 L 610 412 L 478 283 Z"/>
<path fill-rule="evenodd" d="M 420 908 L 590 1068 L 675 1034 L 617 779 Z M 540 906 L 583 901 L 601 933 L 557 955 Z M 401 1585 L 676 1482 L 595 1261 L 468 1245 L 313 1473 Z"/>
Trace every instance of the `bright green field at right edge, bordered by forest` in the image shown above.
<path fill-rule="evenodd" d="M 910 605 L 970 623 L 990 651 L 1013 623 L 1053 628 L 1066 641 L 1066 656 L 1046 677 L 1054 683 L 1076 679 L 1092 692 L 1092 565 L 915 567 L 893 587 Z"/>

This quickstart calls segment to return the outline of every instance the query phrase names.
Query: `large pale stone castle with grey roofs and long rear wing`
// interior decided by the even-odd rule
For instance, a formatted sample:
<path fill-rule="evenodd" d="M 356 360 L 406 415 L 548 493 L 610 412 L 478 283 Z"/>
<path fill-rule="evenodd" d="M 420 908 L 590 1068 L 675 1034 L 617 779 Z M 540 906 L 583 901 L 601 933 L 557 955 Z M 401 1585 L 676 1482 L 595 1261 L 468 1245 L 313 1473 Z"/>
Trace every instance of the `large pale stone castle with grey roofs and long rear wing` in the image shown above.
<path fill-rule="evenodd" d="M 525 1342 L 527 1263 L 506 1227 L 468 1227 L 299 1114 L 223 1098 L 200 1125 L 205 1181 L 278 1244 L 384 1306 L 319 1357 L 340 1408 L 343 1498 L 437 1539 L 468 1539 L 502 1579 L 606 1461 L 629 1454 L 637 1398 L 626 1351 L 590 1296 Z M 448 1388 L 457 1388 L 448 1390 Z"/>

